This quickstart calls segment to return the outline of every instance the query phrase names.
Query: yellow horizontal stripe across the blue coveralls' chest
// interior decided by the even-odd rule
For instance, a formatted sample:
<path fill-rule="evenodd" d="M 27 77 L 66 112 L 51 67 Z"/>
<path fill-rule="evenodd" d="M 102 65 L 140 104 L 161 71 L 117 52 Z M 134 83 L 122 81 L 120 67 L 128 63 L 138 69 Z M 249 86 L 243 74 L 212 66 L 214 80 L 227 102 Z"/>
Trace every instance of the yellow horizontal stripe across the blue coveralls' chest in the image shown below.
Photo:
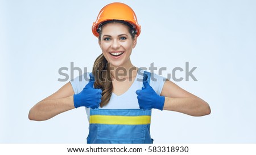
<path fill-rule="evenodd" d="M 90 124 L 122 124 L 140 125 L 150 124 L 151 116 L 118 116 L 118 115 L 91 115 Z"/>

